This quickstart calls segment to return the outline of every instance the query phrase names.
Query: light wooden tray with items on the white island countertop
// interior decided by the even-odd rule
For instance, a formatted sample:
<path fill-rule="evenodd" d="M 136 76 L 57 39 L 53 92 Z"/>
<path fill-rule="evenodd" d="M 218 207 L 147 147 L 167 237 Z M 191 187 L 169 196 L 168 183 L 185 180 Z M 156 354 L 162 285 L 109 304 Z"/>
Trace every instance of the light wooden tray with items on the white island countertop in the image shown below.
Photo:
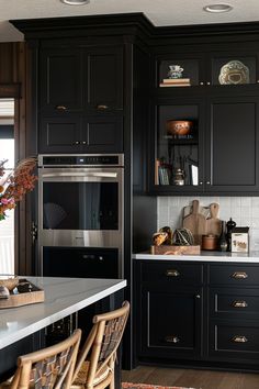
<path fill-rule="evenodd" d="M 10 291 L 7 299 L 0 299 L 0 309 L 15 308 L 44 301 L 44 290 L 25 278 L 19 279 L 19 285 Z"/>

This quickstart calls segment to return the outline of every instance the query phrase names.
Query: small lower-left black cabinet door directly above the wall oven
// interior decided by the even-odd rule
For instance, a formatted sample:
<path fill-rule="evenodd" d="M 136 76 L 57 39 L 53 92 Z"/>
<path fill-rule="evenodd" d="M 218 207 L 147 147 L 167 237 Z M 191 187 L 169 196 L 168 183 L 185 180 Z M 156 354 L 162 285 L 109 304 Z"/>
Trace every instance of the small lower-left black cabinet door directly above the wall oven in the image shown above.
<path fill-rule="evenodd" d="M 40 124 L 40 153 L 77 153 L 80 149 L 80 119 L 44 118 Z"/>

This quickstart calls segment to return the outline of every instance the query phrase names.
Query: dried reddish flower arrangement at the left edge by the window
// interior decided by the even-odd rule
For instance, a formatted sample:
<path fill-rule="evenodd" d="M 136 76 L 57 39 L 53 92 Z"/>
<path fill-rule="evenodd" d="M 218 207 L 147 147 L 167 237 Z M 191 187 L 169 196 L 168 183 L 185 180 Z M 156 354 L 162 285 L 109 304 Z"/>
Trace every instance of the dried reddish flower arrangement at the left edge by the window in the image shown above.
<path fill-rule="evenodd" d="M 5 211 L 15 208 L 23 196 L 32 191 L 37 177 L 33 174 L 36 166 L 36 158 L 22 159 L 9 174 L 4 175 L 4 164 L 0 162 L 0 221 L 4 220 Z"/>

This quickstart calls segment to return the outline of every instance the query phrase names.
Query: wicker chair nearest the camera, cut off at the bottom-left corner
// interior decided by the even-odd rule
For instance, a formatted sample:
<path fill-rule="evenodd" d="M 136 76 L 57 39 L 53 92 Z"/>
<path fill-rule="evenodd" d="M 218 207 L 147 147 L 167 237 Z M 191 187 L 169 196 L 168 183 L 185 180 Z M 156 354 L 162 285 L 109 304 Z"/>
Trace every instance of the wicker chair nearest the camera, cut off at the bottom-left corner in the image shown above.
<path fill-rule="evenodd" d="M 20 356 L 14 376 L 0 384 L 1 389 L 70 388 L 81 330 L 54 346 Z"/>

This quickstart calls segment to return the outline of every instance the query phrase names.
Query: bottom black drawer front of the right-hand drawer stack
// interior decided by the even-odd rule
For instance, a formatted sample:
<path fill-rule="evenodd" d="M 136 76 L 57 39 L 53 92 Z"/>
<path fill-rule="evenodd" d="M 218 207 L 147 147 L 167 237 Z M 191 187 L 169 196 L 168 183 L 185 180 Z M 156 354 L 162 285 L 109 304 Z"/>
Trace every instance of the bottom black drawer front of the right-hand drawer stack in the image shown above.
<path fill-rule="evenodd" d="M 255 323 L 255 322 L 254 322 Z M 228 321 L 211 324 L 211 355 L 254 359 L 259 356 L 259 324 Z"/>

